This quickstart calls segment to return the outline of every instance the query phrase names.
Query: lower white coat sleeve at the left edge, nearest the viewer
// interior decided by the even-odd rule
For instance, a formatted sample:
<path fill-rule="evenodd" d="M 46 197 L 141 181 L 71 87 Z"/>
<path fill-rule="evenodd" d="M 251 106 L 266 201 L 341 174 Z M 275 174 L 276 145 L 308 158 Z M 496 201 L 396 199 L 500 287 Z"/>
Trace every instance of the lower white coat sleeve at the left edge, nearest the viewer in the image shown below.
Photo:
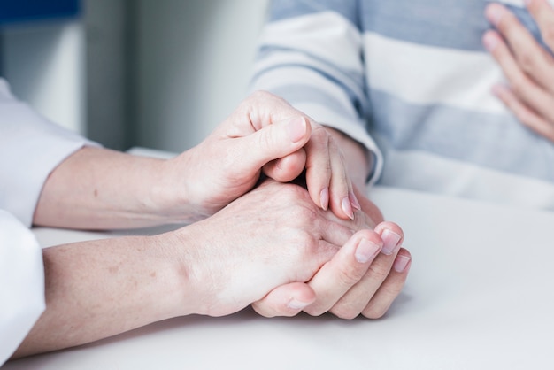
<path fill-rule="evenodd" d="M 0 210 L 0 366 L 45 308 L 42 249 L 35 235 Z"/>

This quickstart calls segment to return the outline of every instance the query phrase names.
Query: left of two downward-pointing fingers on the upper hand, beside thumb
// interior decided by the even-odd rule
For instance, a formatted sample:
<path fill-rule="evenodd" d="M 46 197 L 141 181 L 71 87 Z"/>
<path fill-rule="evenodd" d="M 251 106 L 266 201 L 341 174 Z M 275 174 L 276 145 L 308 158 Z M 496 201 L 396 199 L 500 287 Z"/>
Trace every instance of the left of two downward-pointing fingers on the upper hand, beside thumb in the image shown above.
<path fill-rule="evenodd" d="M 329 206 L 331 161 L 328 150 L 329 135 L 324 127 L 314 124 L 312 137 L 305 145 L 306 185 L 314 204 L 323 210 Z"/>

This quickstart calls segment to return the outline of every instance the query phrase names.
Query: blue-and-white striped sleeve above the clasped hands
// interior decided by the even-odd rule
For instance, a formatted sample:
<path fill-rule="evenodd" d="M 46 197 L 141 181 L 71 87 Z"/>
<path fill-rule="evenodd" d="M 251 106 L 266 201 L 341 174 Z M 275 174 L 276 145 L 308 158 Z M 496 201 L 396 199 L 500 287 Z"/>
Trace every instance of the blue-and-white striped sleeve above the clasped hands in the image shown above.
<path fill-rule="evenodd" d="M 381 173 L 382 158 L 367 133 L 371 112 L 357 8 L 356 1 L 274 1 L 250 89 L 281 96 L 362 143 L 373 156 L 371 184 Z"/>

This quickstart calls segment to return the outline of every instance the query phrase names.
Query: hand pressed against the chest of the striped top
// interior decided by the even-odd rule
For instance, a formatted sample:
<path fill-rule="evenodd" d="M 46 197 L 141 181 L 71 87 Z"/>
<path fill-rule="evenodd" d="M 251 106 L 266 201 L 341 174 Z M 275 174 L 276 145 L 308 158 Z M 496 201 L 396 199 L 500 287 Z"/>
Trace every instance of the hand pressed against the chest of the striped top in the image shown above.
<path fill-rule="evenodd" d="M 527 0 L 542 39 L 554 50 L 554 10 L 546 0 Z M 509 86 L 496 85 L 494 93 L 527 127 L 554 142 L 554 58 L 501 4 L 485 12 L 498 29 L 483 35 L 483 43 L 502 67 Z"/>

